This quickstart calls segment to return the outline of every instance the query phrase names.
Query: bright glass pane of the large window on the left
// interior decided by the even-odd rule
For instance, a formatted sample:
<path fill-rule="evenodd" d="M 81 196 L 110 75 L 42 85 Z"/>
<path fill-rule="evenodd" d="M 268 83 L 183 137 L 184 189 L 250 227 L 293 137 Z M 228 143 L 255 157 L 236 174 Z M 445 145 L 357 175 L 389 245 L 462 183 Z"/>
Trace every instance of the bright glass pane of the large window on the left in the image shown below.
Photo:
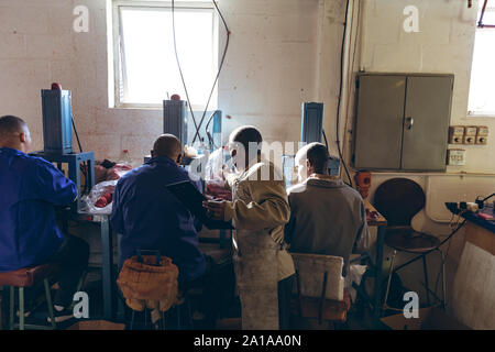
<path fill-rule="evenodd" d="M 180 66 L 193 106 L 204 107 L 213 84 L 213 11 L 176 9 Z M 165 8 L 121 8 L 125 103 L 162 103 L 186 94 L 177 67 L 172 11 Z M 210 107 L 216 107 L 212 97 Z"/>

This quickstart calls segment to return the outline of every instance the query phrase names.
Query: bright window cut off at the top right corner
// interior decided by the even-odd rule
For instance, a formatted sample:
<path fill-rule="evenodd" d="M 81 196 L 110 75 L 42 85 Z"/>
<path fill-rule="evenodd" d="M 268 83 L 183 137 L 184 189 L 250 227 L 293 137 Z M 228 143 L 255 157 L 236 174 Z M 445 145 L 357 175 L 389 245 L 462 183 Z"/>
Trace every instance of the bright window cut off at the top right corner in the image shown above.
<path fill-rule="evenodd" d="M 483 7 L 480 1 L 480 12 Z M 480 19 L 480 14 L 477 16 Z M 488 1 L 483 23 L 495 25 L 495 3 Z M 470 116 L 495 117 L 495 28 L 477 28 L 474 42 L 473 66 L 469 100 Z"/>

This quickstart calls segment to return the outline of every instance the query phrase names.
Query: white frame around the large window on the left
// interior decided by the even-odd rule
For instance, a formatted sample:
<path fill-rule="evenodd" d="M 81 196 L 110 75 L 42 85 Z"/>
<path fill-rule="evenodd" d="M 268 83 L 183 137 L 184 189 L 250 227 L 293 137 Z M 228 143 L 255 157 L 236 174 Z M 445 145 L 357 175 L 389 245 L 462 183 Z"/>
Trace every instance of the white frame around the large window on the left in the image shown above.
<path fill-rule="evenodd" d="M 153 110 L 161 110 L 163 108 L 163 103 L 129 103 L 121 101 L 121 92 L 120 92 L 120 80 L 124 79 L 124 77 L 121 77 L 123 74 L 123 70 L 121 70 L 121 25 L 120 25 L 120 19 L 121 13 L 120 9 L 122 7 L 124 8 L 165 8 L 165 9 L 172 9 L 172 1 L 163 1 L 163 0 L 147 0 L 147 1 L 141 1 L 141 0 L 109 0 L 111 1 L 111 37 L 109 36 L 109 40 L 111 40 L 111 44 L 108 46 L 108 50 L 112 50 L 112 53 L 109 53 L 109 73 L 113 75 L 113 77 L 109 77 L 109 95 L 112 95 L 113 97 L 109 97 L 109 105 L 112 108 L 117 109 L 153 109 Z M 175 1 L 175 9 L 184 10 L 184 9 L 191 9 L 191 10 L 199 10 L 199 11 L 212 11 L 213 13 L 213 26 L 212 26 L 212 37 L 213 37 L 213 47 L 212 47 L 212 55 L 213 55 L 213 68 L 215 70 L 218 69 L 218 48 L 219 48 L 219 18 L 218 13 L 215 11 L 215 7 L 210 0 L 196 0 L 196 1 L 189 1 L 189 0 L 176 0 Z M 110 55 L 111 54 L 111 55 Z M 180 54 L 179 54 L 179 61 L 180 61 Z M 121 75 L 122 73 L 122 75 Z M 191 82 L 186 81 L 186 87 L 188 87 Z M 213 81 L 211 81 L 213 84 Z M 125 84 L 123 84 L 125 85 Z M 217 82 L 217 92 L 218 92 L 218 82 Z M 184 98 L 185 99 L 185 98 Z M 206 107 L 207 101 L 201 102 L 201 105 L 191 105 L 193 110 L 204 110 Z M 216 105 L 212 105 L 210 101 L 209 110 L 212 108 L 216 108 Z"/>

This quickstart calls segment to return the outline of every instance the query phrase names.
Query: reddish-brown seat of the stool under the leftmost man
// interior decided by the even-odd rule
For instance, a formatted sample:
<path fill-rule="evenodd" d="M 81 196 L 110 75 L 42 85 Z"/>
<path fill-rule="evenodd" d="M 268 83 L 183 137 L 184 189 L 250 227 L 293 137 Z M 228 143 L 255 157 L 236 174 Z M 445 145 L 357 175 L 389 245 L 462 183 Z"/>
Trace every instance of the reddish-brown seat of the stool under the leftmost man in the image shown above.
<path fill-rule="evenodd" d="M 31 287 L 58 272 L 55 264 L 24 267 L 14 272 L 0 273 L 0 286 Z"/>

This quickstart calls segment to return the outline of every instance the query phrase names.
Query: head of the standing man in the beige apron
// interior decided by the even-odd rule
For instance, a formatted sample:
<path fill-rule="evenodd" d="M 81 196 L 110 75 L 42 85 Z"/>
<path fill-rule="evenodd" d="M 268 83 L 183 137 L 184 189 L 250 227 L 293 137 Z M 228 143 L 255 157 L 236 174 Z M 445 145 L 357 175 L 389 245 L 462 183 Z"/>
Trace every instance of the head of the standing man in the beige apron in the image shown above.
<path fill-rule="evenodd" d="M 263 138 L 252 125 L 240 127 L 230 133 L 229 147 L 232 162 L 238 169 L 248 167 L 261 154 Z"/>

